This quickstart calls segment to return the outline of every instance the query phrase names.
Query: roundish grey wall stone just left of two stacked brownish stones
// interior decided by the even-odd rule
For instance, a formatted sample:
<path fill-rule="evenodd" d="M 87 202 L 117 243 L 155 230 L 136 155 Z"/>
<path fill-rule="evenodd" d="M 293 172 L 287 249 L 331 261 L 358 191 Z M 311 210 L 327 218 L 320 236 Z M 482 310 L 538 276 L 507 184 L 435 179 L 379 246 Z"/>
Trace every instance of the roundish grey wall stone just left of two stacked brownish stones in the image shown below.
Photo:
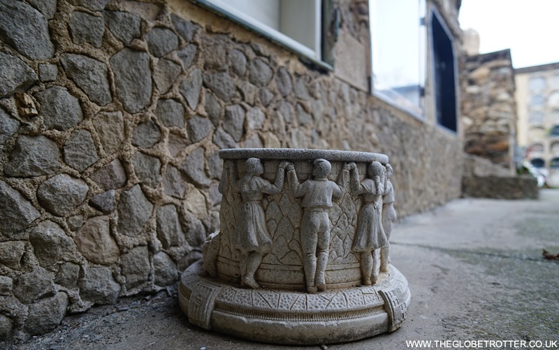
<path fill-rule="evenodd" d="M 95 150 L 92 134 L 87 130 L 76 130 L 64 144 L 64 161 L 75 170 L 83 171 L 99 157 Z"/>

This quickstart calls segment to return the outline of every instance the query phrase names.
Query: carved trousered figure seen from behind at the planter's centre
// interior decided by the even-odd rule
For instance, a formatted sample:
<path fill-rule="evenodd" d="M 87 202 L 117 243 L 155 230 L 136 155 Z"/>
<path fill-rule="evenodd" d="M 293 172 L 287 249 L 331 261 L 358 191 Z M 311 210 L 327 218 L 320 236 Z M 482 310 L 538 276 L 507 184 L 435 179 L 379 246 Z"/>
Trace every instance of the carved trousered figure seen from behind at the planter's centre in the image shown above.
<path fill-rule="evenodd" d="M 328 264 L 330 248 L 330 219 L 328 212 L 332 198 L 339 198 L 344 191 L 344 175 L 340 172 L 337 184 L 328 180 L 332 165 L 326 159 L 315 159 L 312 177 L 299 183 L 293 163 L 287 163 L 289 191 L 295 197 L 303 197 L 303 221 L 301 222 L 301 248 L 303 249 L 303 270 L 307 282 L 307 292 L 326 290 L 324 270 Z"/>

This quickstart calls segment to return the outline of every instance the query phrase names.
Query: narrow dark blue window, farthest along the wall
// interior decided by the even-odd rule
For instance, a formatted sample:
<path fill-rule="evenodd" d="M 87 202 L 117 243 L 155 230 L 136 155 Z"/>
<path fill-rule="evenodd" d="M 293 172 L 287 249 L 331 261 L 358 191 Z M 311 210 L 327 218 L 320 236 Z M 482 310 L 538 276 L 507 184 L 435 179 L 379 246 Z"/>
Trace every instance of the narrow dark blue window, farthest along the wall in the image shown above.
<path fill-rule="evenodd" d="M 435 10 L 431 13 L 430 24 L 437 123 L 456 131 L 456 64 L 453 37 Z"/>

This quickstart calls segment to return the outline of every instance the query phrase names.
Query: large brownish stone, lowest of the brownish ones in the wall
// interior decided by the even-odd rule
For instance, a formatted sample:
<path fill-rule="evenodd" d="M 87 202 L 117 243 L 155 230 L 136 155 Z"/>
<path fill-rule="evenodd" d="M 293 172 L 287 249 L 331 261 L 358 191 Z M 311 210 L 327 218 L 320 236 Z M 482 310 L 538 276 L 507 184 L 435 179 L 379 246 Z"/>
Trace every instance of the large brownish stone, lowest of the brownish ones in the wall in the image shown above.
<path fill-rule="evenodd" d="M 109 217 L 92 217 L 76 233 L 75 246 L 87 261 L 110 265 L 120 257 L 120 249 L 110 235 L 109 225 Z"/>

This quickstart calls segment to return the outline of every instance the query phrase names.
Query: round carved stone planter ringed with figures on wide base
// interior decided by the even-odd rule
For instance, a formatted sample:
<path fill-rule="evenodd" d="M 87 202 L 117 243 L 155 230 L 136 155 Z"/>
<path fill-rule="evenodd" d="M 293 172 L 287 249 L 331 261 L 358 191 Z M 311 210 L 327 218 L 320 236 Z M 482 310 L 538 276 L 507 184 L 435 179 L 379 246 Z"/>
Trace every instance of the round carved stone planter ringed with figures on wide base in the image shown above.
<path fill-rule="evenodd" d="M 400 327 L 410 294 L 388 260 L 395 212 L 387 156 L 284 149 L 219 156 L 220 230 L 180 282 L 191 323 L 279 344 L 345 342 Z"/>

